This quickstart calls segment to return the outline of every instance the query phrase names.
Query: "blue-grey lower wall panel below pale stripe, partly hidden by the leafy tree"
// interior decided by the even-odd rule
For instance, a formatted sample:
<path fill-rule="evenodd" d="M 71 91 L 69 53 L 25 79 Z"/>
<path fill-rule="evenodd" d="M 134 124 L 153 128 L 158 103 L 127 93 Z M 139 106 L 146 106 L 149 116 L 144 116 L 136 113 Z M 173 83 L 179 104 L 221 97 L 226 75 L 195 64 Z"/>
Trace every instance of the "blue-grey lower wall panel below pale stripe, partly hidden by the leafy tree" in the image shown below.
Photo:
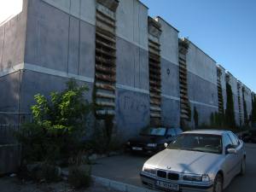
<path fill-rule="evenodd" d="M 44 73 L 35 73 L 26 70 L 23 74 L 22 85 L 20 89 L 20 110 L 29 112 L 32 104 L 35 103 L 34 96 L 38 93 L 49 96 L 52 91 L 61 91 L 66 88 L 69 79 L 56 77 Z M 92 84 L 77 81 L 79 84 L 86 84 L 89 87 L 85 98 L 91 102 Z M 46 85 L 47 84 L 47 85 Z"/>

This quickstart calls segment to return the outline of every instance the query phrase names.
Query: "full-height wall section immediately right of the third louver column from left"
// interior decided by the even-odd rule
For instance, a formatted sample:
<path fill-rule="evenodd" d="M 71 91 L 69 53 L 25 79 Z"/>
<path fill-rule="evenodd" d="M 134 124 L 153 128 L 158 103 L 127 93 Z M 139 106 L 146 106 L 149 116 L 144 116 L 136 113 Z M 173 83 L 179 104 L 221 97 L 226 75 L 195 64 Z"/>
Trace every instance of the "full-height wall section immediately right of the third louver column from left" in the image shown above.
<path fill-rule="evenodd" d="M 199 125 L 209 124 L 211 113 L 218 112 L 216 62 L 195 44 L 190 43 L 187 68 L 192 117 L 195 107 L 199 113 Z"/>

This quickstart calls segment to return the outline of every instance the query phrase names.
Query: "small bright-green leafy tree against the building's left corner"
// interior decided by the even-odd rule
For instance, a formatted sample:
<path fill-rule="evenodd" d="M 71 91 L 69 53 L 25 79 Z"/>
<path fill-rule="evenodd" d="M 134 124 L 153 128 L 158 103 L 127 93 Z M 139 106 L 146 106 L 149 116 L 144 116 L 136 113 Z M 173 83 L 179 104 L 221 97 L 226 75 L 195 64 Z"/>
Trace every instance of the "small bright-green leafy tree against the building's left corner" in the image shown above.
<path fill-rule="evenodd" d="M 92 108 L 84 99 L 87 90 L 85 85 L 79 86 L 70 80 L 66 90 L 52 92 L 49 98 L 40 94 L 34 96 L 34 122 L 23 125 L 17 134 L 24 158 L 55 162 L 75 152 L 84 137 L 86 117 Z"/>

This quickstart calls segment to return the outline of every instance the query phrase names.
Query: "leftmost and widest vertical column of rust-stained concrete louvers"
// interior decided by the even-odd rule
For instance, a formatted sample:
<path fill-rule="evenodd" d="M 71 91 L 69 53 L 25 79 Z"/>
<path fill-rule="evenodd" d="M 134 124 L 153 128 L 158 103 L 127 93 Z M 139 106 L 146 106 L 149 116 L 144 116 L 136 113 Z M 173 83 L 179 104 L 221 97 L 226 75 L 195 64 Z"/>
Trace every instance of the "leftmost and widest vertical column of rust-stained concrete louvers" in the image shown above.
<path fill-rule="evenodd" d="M 117 0 L 96 1 L 96 115 L 115 114 Z"/>

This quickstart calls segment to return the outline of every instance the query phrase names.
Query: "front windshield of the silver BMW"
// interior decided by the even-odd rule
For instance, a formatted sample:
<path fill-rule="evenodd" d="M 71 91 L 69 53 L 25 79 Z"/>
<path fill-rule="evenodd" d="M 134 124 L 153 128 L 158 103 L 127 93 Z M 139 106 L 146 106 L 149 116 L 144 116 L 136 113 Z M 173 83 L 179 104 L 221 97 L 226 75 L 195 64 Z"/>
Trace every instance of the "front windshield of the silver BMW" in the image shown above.
<path fill-rule="evenodd" d="M 222 154 L 222 139 L 218 135 L 186 133 L 177 137 L 168 148 Z"/>

